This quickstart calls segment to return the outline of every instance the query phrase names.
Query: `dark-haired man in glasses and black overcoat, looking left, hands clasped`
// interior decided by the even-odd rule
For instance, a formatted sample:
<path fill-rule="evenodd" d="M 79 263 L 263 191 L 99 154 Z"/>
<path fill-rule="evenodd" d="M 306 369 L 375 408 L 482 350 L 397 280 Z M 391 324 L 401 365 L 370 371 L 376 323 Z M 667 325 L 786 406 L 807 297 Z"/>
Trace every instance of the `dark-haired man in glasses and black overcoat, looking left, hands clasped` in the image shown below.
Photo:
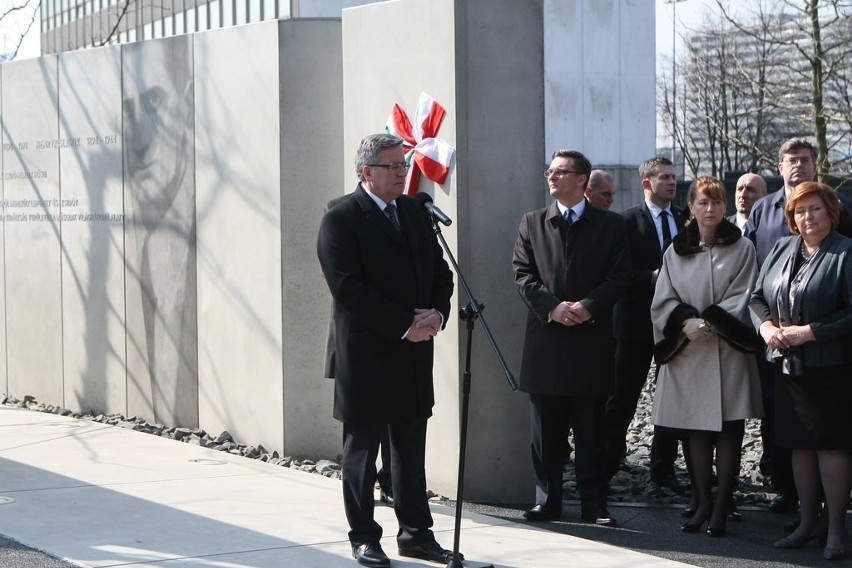
<path fill-rule="evenodd" d="M 604 403 L 612 393 L 612 306 L 630 271 L 624 223 L 592 207 L 583 191 L 592 171 L 573 150 L 557 150 L 545 171 L 554 202 L 521 220 L 512 266 L 529 308 L 520 388 L 531 403 L 535 506 L 530 521 L 562 514 L 566 424 L 583 520 L 614 526 L 606 507 Z"/>

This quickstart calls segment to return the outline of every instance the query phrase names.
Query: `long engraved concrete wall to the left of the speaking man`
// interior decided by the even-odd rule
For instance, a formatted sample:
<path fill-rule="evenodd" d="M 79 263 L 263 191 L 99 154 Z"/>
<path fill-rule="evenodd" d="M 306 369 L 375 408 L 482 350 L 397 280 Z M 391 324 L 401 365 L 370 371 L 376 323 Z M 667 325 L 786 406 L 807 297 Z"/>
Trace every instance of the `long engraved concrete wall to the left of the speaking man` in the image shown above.
<path fill-rule="evenodd" d="M 2 390 L 336 455 L 340 61 L 313 19 L 0 66 Z"/>

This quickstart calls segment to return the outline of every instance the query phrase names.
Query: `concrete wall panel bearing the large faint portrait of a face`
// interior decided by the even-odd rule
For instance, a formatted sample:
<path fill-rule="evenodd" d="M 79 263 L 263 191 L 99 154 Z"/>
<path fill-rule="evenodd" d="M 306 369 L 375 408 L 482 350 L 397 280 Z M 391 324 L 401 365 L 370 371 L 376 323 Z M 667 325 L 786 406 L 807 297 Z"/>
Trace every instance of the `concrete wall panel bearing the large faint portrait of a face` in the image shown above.
<path fill-rule="evenodd" d="M 193 36 L 122 46 L 128 412 L 198 424 Z"/>

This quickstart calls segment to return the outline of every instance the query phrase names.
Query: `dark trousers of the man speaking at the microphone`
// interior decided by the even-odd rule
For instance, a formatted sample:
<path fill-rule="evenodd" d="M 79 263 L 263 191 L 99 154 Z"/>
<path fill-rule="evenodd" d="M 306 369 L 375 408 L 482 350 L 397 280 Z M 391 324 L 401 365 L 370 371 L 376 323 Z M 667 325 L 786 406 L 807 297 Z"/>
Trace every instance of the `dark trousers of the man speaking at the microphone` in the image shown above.
<path fill-rule="evenodd" d="M 426 497 L 426 420 L 396 424 L 343 425 L 343 507 L 352 545 L 378 544 L 382 527 L 374 519 L 376 457 L 390 431 L 394 511 L 400 547 L 434 540 L 432 513 Z"/>

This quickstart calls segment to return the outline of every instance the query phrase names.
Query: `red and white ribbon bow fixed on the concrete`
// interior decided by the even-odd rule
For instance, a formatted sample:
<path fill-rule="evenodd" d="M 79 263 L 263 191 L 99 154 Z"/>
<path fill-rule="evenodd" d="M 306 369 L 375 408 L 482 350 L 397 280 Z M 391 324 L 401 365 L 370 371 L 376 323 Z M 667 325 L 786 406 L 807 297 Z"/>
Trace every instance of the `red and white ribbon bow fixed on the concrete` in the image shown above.
<path fill-rule="evenodd" d="M 445 114 L 447 111 L 444 107 L 426 93 L 420 93 L 413 125 L 399 103 L 393 105 L 385 132 L 405 141 L 405 160 L 411 164 L 405 179 L 406 195 L 417 193 L 420 172 L 435 183 L 444 183 L 447 179 L 456 150 L 435 138 Z"/>

